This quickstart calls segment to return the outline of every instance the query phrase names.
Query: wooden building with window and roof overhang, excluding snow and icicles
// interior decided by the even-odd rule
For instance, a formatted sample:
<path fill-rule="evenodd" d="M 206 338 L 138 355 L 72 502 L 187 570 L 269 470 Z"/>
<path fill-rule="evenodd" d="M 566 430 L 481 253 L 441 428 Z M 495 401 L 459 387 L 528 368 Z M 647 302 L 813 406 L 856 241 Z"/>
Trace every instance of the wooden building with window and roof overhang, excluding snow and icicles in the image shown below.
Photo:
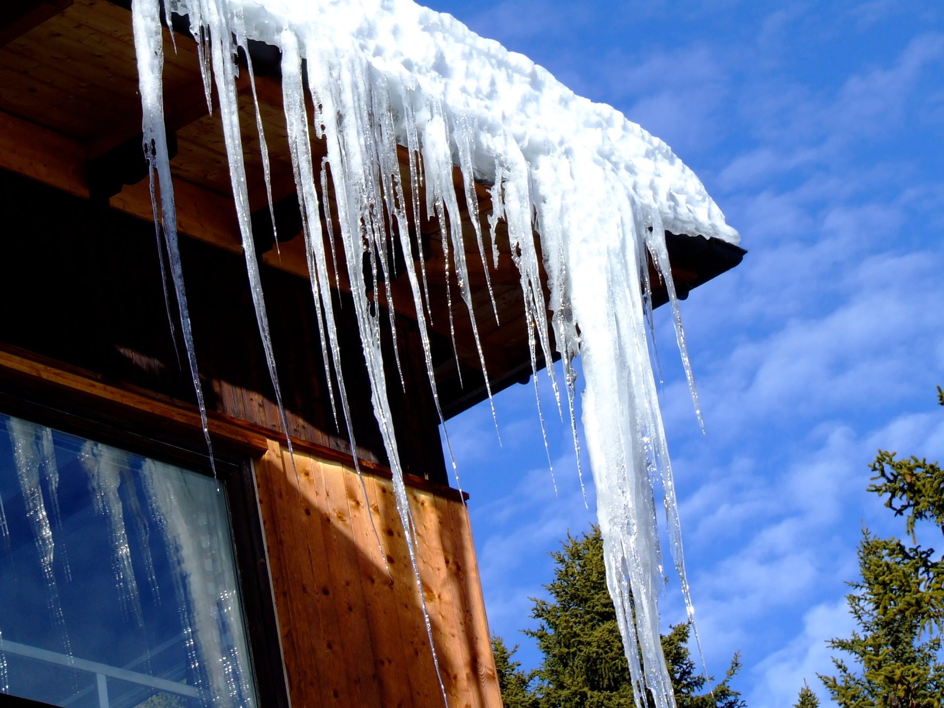
<path fill-rule="evenodd" d="M 212 503 L 228 528 L 212 535 L 212 518 L 177 528 L 157 513 L 168 514 L 170 504 L 183 514 L 173 506 L 179 490 L 161 497 L 155 486 L 160 470 L 179 469 L 167 474 L 191 480 L 192 472 L 211 475 L 211 464 L 179 329 L 171 329 L 177 313 L 165 308 L 131 34 L 120 0 L 21 0 L 0 9 L 0 422 L 10 439 L 8 448 L 0 440 L 7 544 L 0 546 L 0 689 L 40 705 L 441 705 L 350 305 L 340 338 L 357 449 L 329 403 L 271 47 L 257 47 L 253 61 L 280 244 L 271 229 L 264 237 L 269 213 L 247 83 L 241 111 L 289 430 L 262 354 L 222 131 L 207 111 L 194 44 L 178 35 L 177 52 L 166 54 L 165 110 L 194 347 L 226 492 Z M 458 174 L 456 181 L 461 186 Z M 464 190 L 457 192 L 464 204 Z M 477 186 L 477 194 L 484 219 L 488 193 Z M 464 227 L 471 233 L 467 211 Z M 431 312 L 432 353 L 449 417 L 485 397 L 485 379 L 468 322 L 456 322 L 453 353 L 438 234 L 436 223 L 421 219 L 413 238 L 426 255 L 430 301 L 441 303 Z M 473 268 L 481 262 L 475 241 L 466 241 Z M 743 254 L 698 236 L 670 235 L 669 247 L 683 296 Z M 507 256 L 507 238 L 499 249 Z M 471 274 L 494 391 L 531 375 L 521 290 L 510 259 L 504 265 L 492 275 L 500 326 L 483 269 Z M 411 301 L 404 280 L 391 283 L 395 303 L 396 295 Z M 343 278 L 337 297 L 344 309 Z M 656 304 L 665 297 L 657 292 Z M 412 305 L 396 312 L 396 322 L 406 391 L 397 385 L 389 395 L 440 675 L 450 706 L 498 706 L 468 514 L 448 486 Z M 392 358 L 394 343 L 384 346 Z M 51 458 L 42 456 L 43 441 L 55 447 Z M 119 458 L 125 462 L 113 462 Z M 68 475 L 89 481 L 66 497 Z M 38 497 L 30 480 L 41 485 Z M 97 566 L 82 552 L 82 539 L 96 530 L 104 534 L 95 542 Z M 202 551 L 188 550 L 194 538 L 205 542 Z M 217 556 L 234 560 L 202 577 L 194 565 L 200 552 L 207 567 Z M 99 567 L 108 582 L 86 587 L 76 580 L 86 567 Z M 227 578 L 231 587 L 217 587 Z M 74 584 L 84 589 L 73 592 Z M 200 619 L 195 604 L 207 586 L 215 588 L 216 615 Z M 173 612 L 171 597 L 179 605 Z M 230 606 L 220 598 L 241 599 Z M 173 621 L 155 619 L 163 629 L 150 628 L 149 617 L 168 612 Z M 125 632 L 108 629 L 110 613 L 131 628 L 128 636 L 144 639 L 109 640 L 108 632 Z M 202 630 L 207 623 L 217 629 Z M 83 632 L 95 627 L 106 636 L 86 640 Z M 200 667 L 222 660 L 214 650 L 229 662 L 215 678 Z"/>

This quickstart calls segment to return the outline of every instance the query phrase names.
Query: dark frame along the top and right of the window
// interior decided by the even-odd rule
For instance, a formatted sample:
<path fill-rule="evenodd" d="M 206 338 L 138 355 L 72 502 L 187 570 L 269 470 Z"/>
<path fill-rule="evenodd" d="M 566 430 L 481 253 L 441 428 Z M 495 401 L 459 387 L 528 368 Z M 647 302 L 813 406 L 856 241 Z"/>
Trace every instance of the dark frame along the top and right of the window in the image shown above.
<path fill-rule="evenodd" d="M 56 395 L 59 392 L 60 396 Z M 236 560 L 237 591 L 243 608 L 250 654 L 250 670 L 256 685 L 260 708 L 290 708 L 287 673 L 282 654 L 275 595 L 269 567 L 268 549 L 262 528 L 261 509 L 256 485 L 253 455 L 212 438 L 213 464 L 206 452 L 194 445 L 193 430 L 185 430 L 177 421 L 154 416 L 160 425 L 160 437 L 140 421 L 125 419 L 119 425 L 121 408 L 109 406 L 86 408 L 83 396 L 75 399 L 67 388 L 40 386 L 34 389 L 23 381 L 0 376 L 0 413 L 23 418 L 38 425 L 86 437 L 95 442 L 120 447 L 167 464 L 213 476 L 223 485 L 226 495 L 233 555 Z M 141 392 L 136 392 L 141 395 Z M 76 411 L 81 411 L 77 413 Z M 202 434 L 199 435 L 202 439 Z M 259 455 L 261 456 L 261 455 Z M 23 702 L 26 701 L 26 702 Z M 55 705 L 0 694 L 3 705 Z"/>

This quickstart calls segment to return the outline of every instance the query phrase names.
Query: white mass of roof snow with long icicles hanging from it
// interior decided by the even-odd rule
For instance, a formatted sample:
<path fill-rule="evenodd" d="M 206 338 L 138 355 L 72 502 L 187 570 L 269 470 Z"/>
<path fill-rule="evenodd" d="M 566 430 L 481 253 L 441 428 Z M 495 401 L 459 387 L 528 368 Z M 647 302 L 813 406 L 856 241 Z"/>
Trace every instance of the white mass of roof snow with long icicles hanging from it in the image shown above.
<path fill-rule="evenodd" d="M 527 327 L 530 335 L 531 359 L 536 362 L 540 352 L 545 362 L 552 361 L 552 346 L 560 352 L 575 446 L 574 358 L 581 355 L 586 381 L 583 427 L 597 489 L 607 581 L 636 703 L 646 704 L 648 689 L 660 708 L 674 705 L 659 642 L 658 595 L 665 580 L 655 509 L 657 485 L 665 498 L 672 555 L 690 614 L 691 603 L 649 361 L 651 283 L 647 254 L 666 282 L 687 371 L 665 230 L 737 239 L 736 231 L 725 225 L 698 178 L 665 143 L 617 111 L 575 96 L 527 59 L 505 51 L 496 42 L 482 40 L 448 15 L 420 8 L 411 0 L 168 0 L 166 8 L 160 0 L 134 0 L 132 8 L 144 145 L 152 167 L 152 194 L 156 195 L 155 221 L 162 226 L 159 240 L 164 239 L 161 248 L 169 257 L 180 327 L 205 430 L 163 126 L 161 20 L 166 23 L 170 19 L 162 16 L 164 12 L 189 15 L 208 102 L 211 82 L 216 85 L 218 101 L 212 108 L 223 124 L 246 266 L 280 409 L 278 375 L 250 227 L 236 58 L 239 48 L 248 56 L 250 39 L 277 45 L 281 51 L 285 120 L 312 295 L 326 373 L 337 389 L 336 399 L 332 390 L 332 406 L 340 408 L 346 430 L 352 430 L 345 382 L 340 376 L 338 314 L 329 285 L 330 263 L 338 261 L 326 253 L 322 215 L 334 231 L 329 243 L 337 239 L 344 249 L 373 409 L 393 470 L 397 509 L 417 583 L 413 524 L 387 398 L 388 386 L 400 382 L 388 381 L 380 354 L 380 331 L 394 327 L 394 322 L 384 321 L 382 311 L 371 306 L 369 294 L 379 280 L 390 282 L 383 269 L 388 267 L 391 244 L 398 239 L 403 253 L 408 254 L 406 273 L 435 396 L 424 299 L 429 296 L 426 272 L 421 253 L 415 254 L 421 267 L 413 262 L 410 229 L 416 225 L 408 223 L 407 200 L 413 201 L 413 214 L 418 215 L 418 187 L 425 188 L 422 208 L 441 225 L 447 269 L 449 254 L 454 267 L 451 274 L 447 270 L 447 278 L 453 279 L 462 294 L 477 341 L 460 207 L 452 179 L 454 166 L 463 175 L 464 201 L 486 274 L 486 243 L 491 239 L 494 267 L 495 228 L 499 220 L 505 223 L 514 266 L 520 274 L 527 320 L 521 326 Z M 255 97 L 251 65 L 248 72 Z M 306 108 L 306 92 L 312 97 L 313 114 Z M 256 115 L 268 183 L 258 106 Z M 312 136 L 324 138 L 328 146 L 324 161 L 330 165 L 336 198 L 333 224 L 316 189 L 325 184 L 326 170 L 324 162 L 312 159 Z M 398 144 L 410 155 L 409 184 L 401 179 Z M 490 232 L 480 227 L 474 191 L 477 178 L 492 185 L 493 211 L 487 214 Z M 541 286 L 535 233 L 540 234 L 549 299 Z M 361 263 L 365 253 L 379 255 L 372 255 L 373 283 L 364 281 Z M 389 303 L 389 292 L 387 297 Z M 448 306 L 450 312 L 461 307 L 452 302 Z M 552 313 L 549 318 L 548 312 Z M 552 331 L 552 339 L 548 331 Z M 488 362 L 480 346 L 479 354 L 484 368 Z M 553 367 L 548 366 L 548 375 L 562 407 Z M 438 398 L 436 406 L 438 410 Z M 209 445 L 209 434 L 207 440 Z M 353 439 L 350 442 L 351 449 L 356 449 Z M 422 599 L 422 592 L 419 597 Z M 429 630 L 429 617 L 427 627 Z"/>

